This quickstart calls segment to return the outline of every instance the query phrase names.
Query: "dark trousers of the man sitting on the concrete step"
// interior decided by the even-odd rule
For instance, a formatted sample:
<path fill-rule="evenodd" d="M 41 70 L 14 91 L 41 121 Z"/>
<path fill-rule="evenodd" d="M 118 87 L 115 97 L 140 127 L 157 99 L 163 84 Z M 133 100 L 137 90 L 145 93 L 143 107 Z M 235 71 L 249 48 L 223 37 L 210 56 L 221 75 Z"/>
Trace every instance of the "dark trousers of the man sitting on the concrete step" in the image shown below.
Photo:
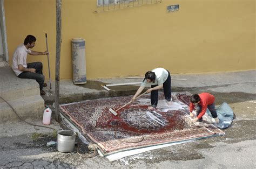
<path fill-rule="evenodd" d="M 34 68 L 36 69 L 36 73 L 31 72 L 22 72 L 18 75 L 19 78 L 22 79 L 35 79 L 39 83 L 40 91 L 43 89 L 44 86 L 44 75 L 43 75 L 43 64 L 42 62 L 33 62 L 27 64 L 26 68 Z"/>

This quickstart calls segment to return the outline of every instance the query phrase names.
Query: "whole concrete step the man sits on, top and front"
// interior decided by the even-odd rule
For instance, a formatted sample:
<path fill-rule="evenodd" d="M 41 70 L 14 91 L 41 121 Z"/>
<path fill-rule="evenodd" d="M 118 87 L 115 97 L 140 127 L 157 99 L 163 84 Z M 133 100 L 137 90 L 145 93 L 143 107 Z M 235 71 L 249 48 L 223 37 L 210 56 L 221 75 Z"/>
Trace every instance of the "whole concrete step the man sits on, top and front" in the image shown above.
<path fill-rule="evenodd" d="M 44 100 L 36 80 L 18 78 L 10 66 L 0 67 L 0 96 L 23 119 L 42 119 Z M 0 98 L 0 122 L 17 121 L 19 118 Z"/>

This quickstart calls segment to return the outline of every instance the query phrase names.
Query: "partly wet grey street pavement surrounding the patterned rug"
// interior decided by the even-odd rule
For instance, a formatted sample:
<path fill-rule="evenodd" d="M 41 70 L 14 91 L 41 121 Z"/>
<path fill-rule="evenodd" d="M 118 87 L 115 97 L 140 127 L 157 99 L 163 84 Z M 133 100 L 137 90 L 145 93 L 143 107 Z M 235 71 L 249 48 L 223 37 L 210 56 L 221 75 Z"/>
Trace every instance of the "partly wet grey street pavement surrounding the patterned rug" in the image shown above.
<path fill-rule="evenodd" d="M 113 162 L 98 155 L 92 158 L 85 158 L 80 157 L 76 150 L 72 153 L 61 153 L 55 147 L 47 147 L 47 142 L 56 140 L 51 130 L 32 127 L 37 133 L 44 133 L 42 136 L 32 138 L 33 132 L 31 131 L 21 135 L 15 134 L 15 132 L 19 132 L 17 128 L 22 126 L 23 128 L 30 129 L 31 126 L 26 124 L 20 124 L 20 126 L 14 126 L 17 124 L 5 124 L 1 126 L 5 132 L 2 132 L 0 139 L 0 167 L 255 168 L 255 85 L 256 83 L 252 82 L 188 90 L 190 93 L 207 91 L 215 96 L 215 103 L 217 105 L 224 101 L 230 105 L 234 111 L 235 119 L 230 128 L 224 129 L 226 135 L 148 151 Z M 87 88 L 90 88 L 89 86 L 90 83 L 87 84 Z M 129 90 L 129 92 L 132 92 L 132 90 Z M 128 95 L 129 93 L 125 94 Z M 72 101 L 72 99 L 69 101 Z M 52 125 L 58 128 L 57 122 L 53 123 Z M 60 126 L 64 125 L 60 124 Z M 82 143 L 79 140 L 77 141 L 78 145 L 82 146 Z M 80 151 L 84 156 L 92 154 L 86 146 Z"/>

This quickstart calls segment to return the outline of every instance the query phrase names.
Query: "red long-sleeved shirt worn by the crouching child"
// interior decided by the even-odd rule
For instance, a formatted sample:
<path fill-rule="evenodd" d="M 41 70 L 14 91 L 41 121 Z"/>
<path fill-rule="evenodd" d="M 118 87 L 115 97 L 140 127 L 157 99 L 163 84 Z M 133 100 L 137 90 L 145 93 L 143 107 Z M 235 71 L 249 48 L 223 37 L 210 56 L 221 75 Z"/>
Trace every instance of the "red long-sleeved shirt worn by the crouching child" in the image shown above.
<path fill-rule="evenodd" d="M 199 112 L 199 115 L 197 116 L 198 119 L 204 116 L 207 109 L 207 105 L 210 105 L 215 101 L 214 96 L 211 95 L 210 93 L 200 93 L 199 97 L 200 97 L 200 101 L 198 104 L 201 105 L 202 109 L 201 109 L 201 112 Z M 190 112 L 192 112 L 193 109 L 194 109 L 194 104 L 190 103 Z"/>

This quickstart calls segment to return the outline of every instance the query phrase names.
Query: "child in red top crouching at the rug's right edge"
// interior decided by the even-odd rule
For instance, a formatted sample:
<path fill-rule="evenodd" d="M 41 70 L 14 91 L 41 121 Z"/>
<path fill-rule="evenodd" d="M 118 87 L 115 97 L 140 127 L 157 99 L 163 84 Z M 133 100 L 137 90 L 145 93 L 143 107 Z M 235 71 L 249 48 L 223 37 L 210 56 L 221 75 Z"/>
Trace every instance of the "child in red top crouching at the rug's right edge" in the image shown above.
<path fill-rule="evenodd" d="M 219 118 L 215 109 L 215 98 L 210 93 L 201 93 L 201 94 L 193 94 L 190 97 L 190 116 L 194 117 L 192 111 L 195 105 L 198 106 L 197 108 L 197 117 L 193 119 L 193 122 L 196 121 L 203 121 L 203 116 L 208 108 L 212 114 L 212 117 L 215 119 L 216 123 L 219 123 Z"/>

